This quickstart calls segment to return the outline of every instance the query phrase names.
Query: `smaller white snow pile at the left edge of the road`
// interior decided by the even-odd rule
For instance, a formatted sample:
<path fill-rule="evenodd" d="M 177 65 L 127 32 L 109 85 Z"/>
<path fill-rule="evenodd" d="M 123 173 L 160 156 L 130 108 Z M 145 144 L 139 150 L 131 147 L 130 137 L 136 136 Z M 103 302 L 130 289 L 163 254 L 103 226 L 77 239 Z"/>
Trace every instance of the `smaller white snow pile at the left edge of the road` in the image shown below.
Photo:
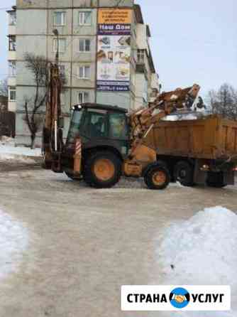
<path fill-rule="evenodd" d="M 11 272 L 16 272 L 27 246 L 26 228 L 0 210 L 0 279 Z"/>

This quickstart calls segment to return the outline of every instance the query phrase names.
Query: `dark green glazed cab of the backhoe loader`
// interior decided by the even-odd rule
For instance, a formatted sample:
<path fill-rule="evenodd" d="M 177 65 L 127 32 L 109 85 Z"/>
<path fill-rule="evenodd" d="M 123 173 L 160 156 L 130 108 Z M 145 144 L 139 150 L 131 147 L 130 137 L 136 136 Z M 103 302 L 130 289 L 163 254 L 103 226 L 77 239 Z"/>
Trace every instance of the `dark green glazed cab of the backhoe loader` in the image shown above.
<path fill-rule="evenodd" d="M 126 109 L 104 104 L 87 103 L 72 107 L 65 151 L 75 149 L 75 140 L 79 136 L 83 150 L 109 146 L 125 158 L 130 133 L 126 114 Z"/>

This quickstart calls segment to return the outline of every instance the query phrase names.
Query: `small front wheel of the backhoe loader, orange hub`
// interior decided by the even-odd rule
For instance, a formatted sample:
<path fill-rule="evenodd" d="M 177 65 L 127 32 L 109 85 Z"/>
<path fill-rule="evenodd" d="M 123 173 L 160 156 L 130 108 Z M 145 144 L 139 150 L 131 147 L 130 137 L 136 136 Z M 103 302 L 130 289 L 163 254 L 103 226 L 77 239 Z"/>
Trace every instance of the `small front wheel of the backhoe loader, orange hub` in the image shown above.
<path fill-rule="evenodd" d="M 149 189 L 165 189 L 170 183 L 170 173 L 164 166 L 152 166 L 145 173 L 144 181 Z"/>

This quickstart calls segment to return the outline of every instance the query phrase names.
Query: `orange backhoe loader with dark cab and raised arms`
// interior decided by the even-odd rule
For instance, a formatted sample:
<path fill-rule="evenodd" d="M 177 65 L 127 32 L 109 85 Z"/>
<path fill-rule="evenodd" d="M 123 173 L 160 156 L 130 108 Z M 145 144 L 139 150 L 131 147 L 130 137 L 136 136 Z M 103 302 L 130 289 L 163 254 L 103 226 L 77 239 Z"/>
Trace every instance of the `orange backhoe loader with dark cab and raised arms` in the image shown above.
<path fill-rule="evenodd" d="M 94 188 L 111 188 L 121 176 L 143 177 L 148 188 L 161 190 L 170 183 L 170 173 L 157 160 L 157 152 L 143 144 L 160 119 L 190 109 L 199 85 L 164 92 L 148 107 L 131 113 L 104 104 L 72 107 L 67 140 L 62 139 L 60 72 L 50 65 L 49 98 L 43 129 L 44 165 L 56 173 L 65 172 L 75 181 Z"/>

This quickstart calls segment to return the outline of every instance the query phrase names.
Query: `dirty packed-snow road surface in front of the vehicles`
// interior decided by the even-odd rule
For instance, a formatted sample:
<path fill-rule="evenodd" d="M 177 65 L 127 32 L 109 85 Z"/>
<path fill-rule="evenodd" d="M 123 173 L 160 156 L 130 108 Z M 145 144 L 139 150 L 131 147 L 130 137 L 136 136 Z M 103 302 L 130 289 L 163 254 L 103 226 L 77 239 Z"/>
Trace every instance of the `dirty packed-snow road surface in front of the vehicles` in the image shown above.
<path fill-rule="evenodd" d="M 18 271 L 1 281 L 0 316 L 148 316 L 121 312 L 121 285 L 159 284 L 162 230 L 205 207 L 235 211 L 236 190 L 130 181 L 94 190 L 37 167 L 0 171 L 0 207 L 29 232 Z"/>

